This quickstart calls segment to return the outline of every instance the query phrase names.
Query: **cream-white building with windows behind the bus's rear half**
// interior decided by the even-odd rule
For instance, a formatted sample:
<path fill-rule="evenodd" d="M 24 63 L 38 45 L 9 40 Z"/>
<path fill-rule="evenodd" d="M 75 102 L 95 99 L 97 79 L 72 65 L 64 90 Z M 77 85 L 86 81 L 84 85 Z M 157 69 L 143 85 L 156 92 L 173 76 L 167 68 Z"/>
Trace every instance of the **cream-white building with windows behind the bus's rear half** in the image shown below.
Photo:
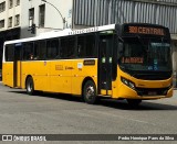
<path fill-rule="evenodd" d="M 31 33 L 32 24 L 35 24 L 34 34 Z M 72 0 L 49 0 L 49 3 L 42 0 L 0 0 L 0 59 L 4 41 L 71 26 Z"/>

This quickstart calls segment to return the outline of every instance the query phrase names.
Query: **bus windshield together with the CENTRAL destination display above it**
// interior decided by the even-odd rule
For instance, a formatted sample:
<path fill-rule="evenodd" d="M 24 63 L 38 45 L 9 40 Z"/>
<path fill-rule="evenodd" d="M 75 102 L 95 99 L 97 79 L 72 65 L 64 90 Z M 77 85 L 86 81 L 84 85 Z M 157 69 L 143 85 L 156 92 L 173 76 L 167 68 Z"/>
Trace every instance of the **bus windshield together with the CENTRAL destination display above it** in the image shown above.
<path fill-rule="evenodd" d="M 117 51 L 119 68 L 132 76 L 162 74 L 166 75 L 166 78 L 170 77 L 173 65 L 168 29 L 155 25 L 153 30 L 152 25 L 148 29 L 146 24 L 137 26 L 145 27 L 146 33 L 142 33 L 142 29 L 135 29 L 134 32 L 136 33 L 133 33 L 128 26 L 123 25 L 121 35 L 123 41 L 118 42 L 123 46 L 122 52 Z"/>

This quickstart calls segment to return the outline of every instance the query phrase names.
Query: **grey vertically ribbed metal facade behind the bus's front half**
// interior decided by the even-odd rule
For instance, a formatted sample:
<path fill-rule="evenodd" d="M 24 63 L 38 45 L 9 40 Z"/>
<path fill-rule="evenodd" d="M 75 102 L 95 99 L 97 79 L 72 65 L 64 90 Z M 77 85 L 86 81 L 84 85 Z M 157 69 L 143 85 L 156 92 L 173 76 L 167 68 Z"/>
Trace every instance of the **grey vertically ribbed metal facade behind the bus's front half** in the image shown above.
<path fill-rule="evenodd" d="M 150 1 L 150 0 L 149 0 Z M 163 4 L 160 3 L 163 2 Z M 97 26 L 112 23 L 143 22 L 162 24 L 177 33 L 177 0 L 74 0 L 74 24 Z"/>

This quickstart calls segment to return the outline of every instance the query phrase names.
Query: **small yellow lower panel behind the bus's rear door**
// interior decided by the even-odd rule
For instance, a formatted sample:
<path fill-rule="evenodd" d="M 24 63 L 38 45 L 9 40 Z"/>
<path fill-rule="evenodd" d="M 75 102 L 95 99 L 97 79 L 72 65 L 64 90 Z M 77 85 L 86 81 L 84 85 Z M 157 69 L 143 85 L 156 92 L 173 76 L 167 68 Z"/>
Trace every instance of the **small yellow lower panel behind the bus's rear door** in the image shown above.
<path fill-rule="evenodd" d="M 2 67 L 2 81 L 3 85 L 13 87 L 13 63 L 3 63 Z"/>

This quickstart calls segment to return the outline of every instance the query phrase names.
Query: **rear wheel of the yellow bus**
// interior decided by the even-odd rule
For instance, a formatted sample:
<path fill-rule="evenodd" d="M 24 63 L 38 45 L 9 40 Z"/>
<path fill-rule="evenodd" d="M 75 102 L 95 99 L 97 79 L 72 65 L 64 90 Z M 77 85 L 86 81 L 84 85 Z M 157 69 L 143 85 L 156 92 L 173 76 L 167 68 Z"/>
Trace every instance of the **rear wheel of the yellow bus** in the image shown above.
<path fill-rule="evenodd" d="M 31 95 L 31 96 L 34 95 L 34 82 L 33 82 L 32 77 L 29 77 L 27 79 L 25 88 L 27 88 L 27 93 L 28 95 Z"/>

